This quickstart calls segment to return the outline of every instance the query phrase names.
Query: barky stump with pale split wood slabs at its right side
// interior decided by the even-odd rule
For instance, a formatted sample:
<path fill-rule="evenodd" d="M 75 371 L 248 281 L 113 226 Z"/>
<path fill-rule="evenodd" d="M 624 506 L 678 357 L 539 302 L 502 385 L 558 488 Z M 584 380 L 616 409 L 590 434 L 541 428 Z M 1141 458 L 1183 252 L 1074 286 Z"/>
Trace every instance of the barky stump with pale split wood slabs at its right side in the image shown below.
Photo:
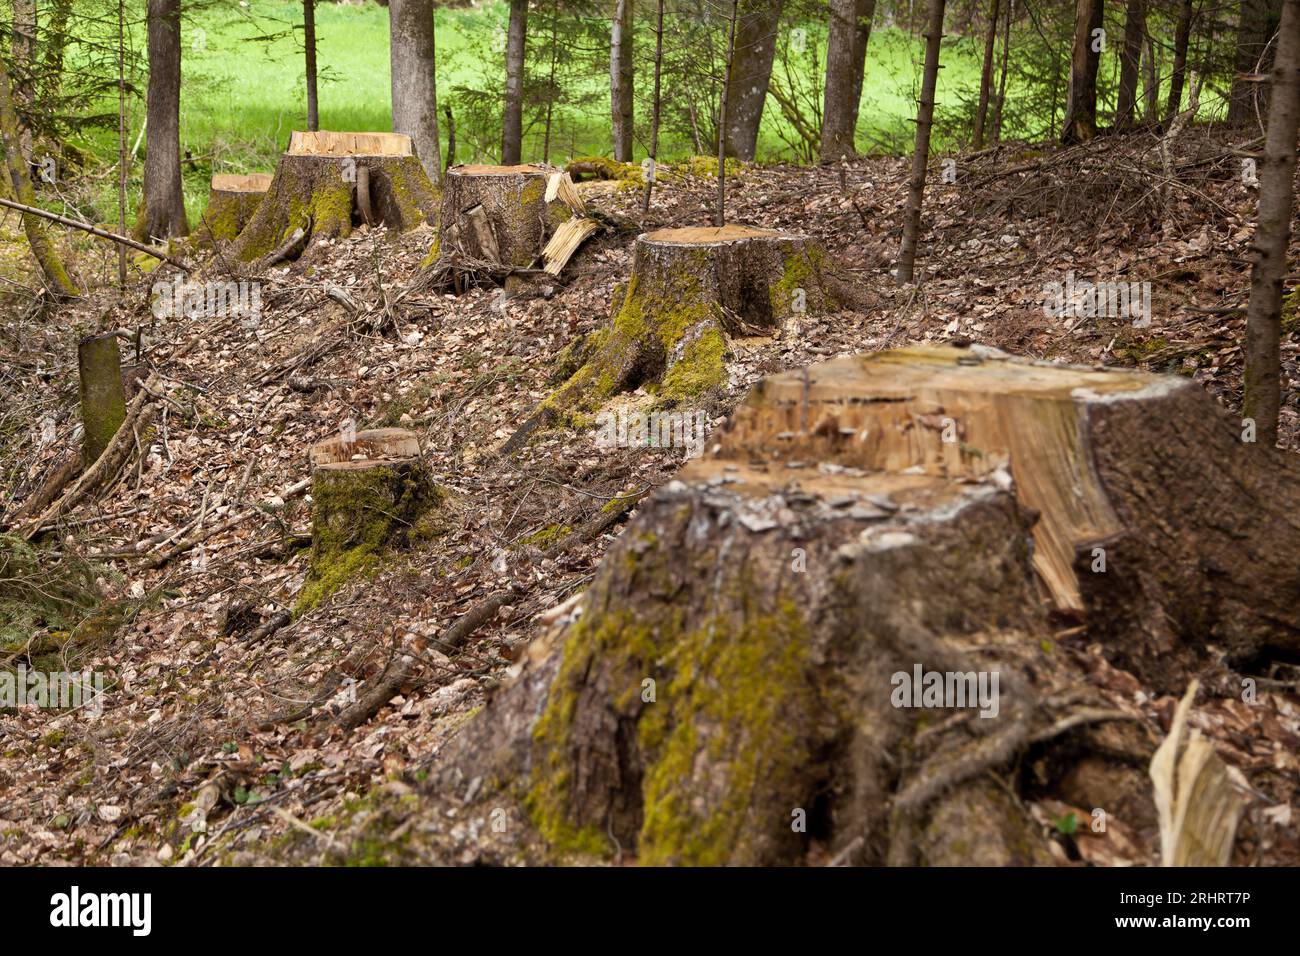
<path fill-rule="evenodd" d="M 448 169 L 438 242 L 426 263 L 459 256 L 507 272 L 530 268 L 547 237 L 573 215 L 566 203 L 572 183 L 550 189 L 556 172 L 542 165 Z"/>

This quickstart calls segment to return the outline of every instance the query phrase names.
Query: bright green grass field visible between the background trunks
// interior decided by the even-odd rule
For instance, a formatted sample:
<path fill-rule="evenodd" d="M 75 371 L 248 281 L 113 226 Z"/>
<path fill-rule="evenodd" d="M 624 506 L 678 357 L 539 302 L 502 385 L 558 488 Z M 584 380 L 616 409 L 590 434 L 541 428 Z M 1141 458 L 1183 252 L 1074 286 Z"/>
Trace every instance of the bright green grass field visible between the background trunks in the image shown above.
<path fill-rule="evenodd" d="M 506 30 L 507 8 L 493 3 L 480 9 L 439 9 L 438 87 L 448 96 L 458 86 L 478 87 L 485 73 L 499 72 L 491 62 L 493 39 Z M 321 127 L 334 130 L 389 130 L 389 13 L 377 4 L 320 4 L 317 7 L 317 47 L 320 69 Z M 213 172 L 256 172 L 274 169 L 276 159 L 289 134 L 306 126 L 306 87 L 300 30 L 302 5 L 276 0 L 251 0 L 238 12 L 207 9 L 185 21 L 182 29 L 183 86 L 181 96 L 181 142 L 191 163 L 186 166 L 186 206 L 191 219 L 207 200 L 208 177 Z M 266 39 L 268 35 L 276 35 Z M 143 38 L 140 38 L 143 40 Z M 641 42 L 650 43 L 642 27 Z M 814 47 L 818 62 L 824 62 L 824 30 L 810 29 L 805 57 L 811 64 Z M 638 53 L 640 56 L 640 53 Z M 958 94 L 970 95 L 979 75 L 978 44 L 963 39 L 945 40 L 939 105 L 958 103 Z M 898 150 L 910 140 L 915 113 L 914 83 L 920 74 L 922 44 L 905 33 L 878 29 L 871 38 L 867 78 L 862 98 L 859 146 Z M 590 90 L 601 94 L 604 81 L 590 78 Z M 638 77 L 638 92 L 650 88 L 646 72 Z M 601 96 L 597 95 L 597 103 Z M 113 103 L 116 108 L 116 103 Z M 649 104 L 638 98 L 638 122 L 649 114 Z M 144 104 L 129 104 L 127 124 L 131 142 L 139 133 Z M 792 159 L 780 135 L 784 120 L 768 99 L 759 142 L 759 159 Z M 937 133 L 937 127 L 936 127 Z M 610 120 L 599 108 L 578 112 L 562 108 L 556 116 L 551 159 L 568 155 L 607 153 Z M 692 144 L 668 135 L 660 155 L 671 161 L 686 156 Z M 446 143 L 445 143 L 446 144 Z M 112 163 L 116 135 L 103 133 L 90 140 L 94 153 Z M 525 159 L 541 159 L 541 137 L 525 142 Z M 640 150 L 644 153 L 644 148 Z M 494 160 L 471 156 L 467 137 L 460 138 L 458 160 Z M 139 190 L 140 164 L 133 186 Z M 114 206 L 110 183 L 95 206 Z"/>

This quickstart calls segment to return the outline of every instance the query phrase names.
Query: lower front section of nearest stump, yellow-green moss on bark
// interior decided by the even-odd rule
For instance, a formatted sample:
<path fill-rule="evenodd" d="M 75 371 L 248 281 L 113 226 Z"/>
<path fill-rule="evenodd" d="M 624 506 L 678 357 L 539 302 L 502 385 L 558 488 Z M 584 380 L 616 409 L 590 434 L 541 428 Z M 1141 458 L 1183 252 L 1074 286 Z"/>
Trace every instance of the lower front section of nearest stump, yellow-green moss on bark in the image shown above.
<path fill-rule="evenodd" d="M 788 865 L 818 832 L 832 855 L 857 840 L 854 862 L 1048 862 L 987 775 L 1058 685 L 1031 522 L 992 483 L 693 462 L 443 748 L 429 792 L 472 792 L 460 819 L 517 808 L 533 829 L 502 860 Z M 996 715 L 897 706 L 893 675 L 918 663 L 998 674 Z"/>

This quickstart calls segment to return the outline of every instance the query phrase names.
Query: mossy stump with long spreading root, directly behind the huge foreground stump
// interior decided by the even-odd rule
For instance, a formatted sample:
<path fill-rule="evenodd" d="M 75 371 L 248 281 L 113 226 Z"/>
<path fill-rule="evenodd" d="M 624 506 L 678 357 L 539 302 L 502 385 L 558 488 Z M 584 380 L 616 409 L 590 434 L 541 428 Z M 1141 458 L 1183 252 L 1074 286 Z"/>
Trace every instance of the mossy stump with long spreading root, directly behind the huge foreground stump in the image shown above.
<path fill-rule="evenodd" d="M 620 392 L 649 386 L 663 405 L 699 399 L 727 381 L 728 337 L 772 334 L 848 300 L 835 264 L 806 235 L 742 225 L 645 233 L 610 324 L 569 347 L 577 371 L 503 451 L 540 423 L 594 411 Z"/>

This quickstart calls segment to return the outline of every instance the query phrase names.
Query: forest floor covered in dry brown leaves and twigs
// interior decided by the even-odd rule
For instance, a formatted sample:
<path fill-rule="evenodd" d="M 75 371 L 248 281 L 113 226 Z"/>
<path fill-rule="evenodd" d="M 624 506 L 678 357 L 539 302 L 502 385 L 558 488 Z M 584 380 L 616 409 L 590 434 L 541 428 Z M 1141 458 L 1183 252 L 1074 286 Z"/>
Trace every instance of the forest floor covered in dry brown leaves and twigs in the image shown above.
<path fill-rule="evenodd" d="M 1254 195 L 1232 147 L 1247 139 L 1190 130 L 1156 185 L 1149 164 L 1160 163 L 1152 159 L 1158 140 L 1145 134 L 1070 151 L 957 156 L 956 183 L 936 176 L 927 193 L 924 281 L 902 289 L 889 263 L 905 160 L 745 168 L 731 179 L 729 219 L 824 242 L 852 272 L 863 310 L 810 317 L 798 336 L 733 342 L 727 388 L 703 411 L 716 425 L 754 382 L 780 369 L 953 339 L 1191 376 L 1235 410 Z M 935 169 L 942 170 L 939 161 Z M 706 222 L 714 189 L 705 177 L 663 182 L 650 224 Z M 594 183 L 584 191 L 592 204 L 638 217 L 632 190 Z M 554 388 L 556 352 L 606 320 L 630 268 L 630 237 L 590 241 L 550 299 L 420 291 L 415 280 L 432 238 L 428 229 L 399 237 L 361 228 L 315 250 L 309 274 L 290 268 L 263 277 L 257 323 L 155 321 L 150 278 L 125 303 L 105 293 L 48 321 L 5 316 L 0 488 L 10 512 L 74 447 L 78 334 L 143 325 L 142 360 L 160 372 L 170 402 L 143 458 L 42 544 L 53 568 L 88 563 L 98 600 L 122 622 L 116 633 L 64 650 L 68 670 L 108 675 L 101 714 L 0 711 L 0 864 L 458 861 L 420 838 L 434 813 L 420 792 L 424 769 L 488 701 L 538 615 L 590 580 L 619 529 L 558 557 L 545 549 L 611 499 L 666 483 L 682 453 L 607 450 L 590 431 L 558 428 L 514 458 L 491 454 Z M 1150 325 L 1046 316 L 1044 285 L 1065 284 L 1070 272 L 1080 281 L 1149 281 Z M 359 308 L 330 298 L 332 285 Z M 1294 306 L 1290 316 L 1283 362 L 1295 381 Z M 42 425 L 47 419 L 52 427 Z M 450 493 L 446 528 L 250 640 L 260 622 L 298 601 L 309 506 L 287 489 L 308 476 L 308 447 L 346 419 L 420 434 Z M 1297 432 L 1288 393 L 1282 444 L 1296 449 Z M 165 540 L 246 512 L 202 548 L 150 562 Z M 517 600 L 443 654 L 439 633 L 507 585 Z M 0 591 L 0 609 L 9 598 Z M 40 630 L 48 637 L 57 628 L 44 622 Z M 348 689 L 364 689 L 411 636 L 421 666 L 402 696 L 342 730 L 335 717 Z M 1061 653 L 1075 656 L 1080 680 L 1152 739 L 1164 736 L 1173 697 L 1098 663 L 1086 633 L 1063 637 Z M 10 666 L 17 658 L 8 656 Z M 1192 718 L 1253 792 L 1236 844 L 1240 864 L 1300 864 L 1291 825 L 1300 672 L 1283 666 L 1275 676 L 1253 706 L 1210 693 Z M 1108 834 L 1075 831 L 1063 821 L 1087 822 L 1105 782 L 1084 769 L 1071 779 L 1072 790 L 1036 808 L 1060 858 L 1153 862 L 1149 796 Z"/>

